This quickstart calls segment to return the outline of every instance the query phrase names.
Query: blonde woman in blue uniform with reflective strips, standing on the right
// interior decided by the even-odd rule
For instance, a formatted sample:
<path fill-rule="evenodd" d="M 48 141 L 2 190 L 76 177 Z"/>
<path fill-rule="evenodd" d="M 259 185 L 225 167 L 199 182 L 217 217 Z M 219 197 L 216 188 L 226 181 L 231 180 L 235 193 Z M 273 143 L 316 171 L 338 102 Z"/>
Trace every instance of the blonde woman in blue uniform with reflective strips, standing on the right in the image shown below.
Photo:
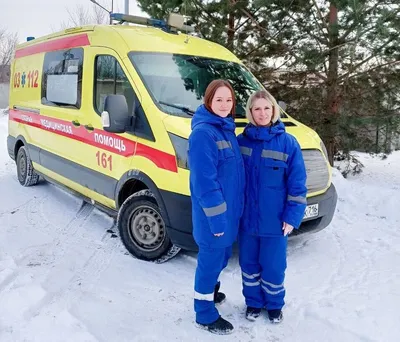
<path fill-rule="evenodd" d="M 238 136 L 246 169 L 245 209 L 239 231 L 246 318 L 266 308 L 271 322 L 283 319 L 288 235 L 306 207 L 306 169 L 297 140 L 286 133 L 271 94 L 252 94 L 249 124 Z"/>

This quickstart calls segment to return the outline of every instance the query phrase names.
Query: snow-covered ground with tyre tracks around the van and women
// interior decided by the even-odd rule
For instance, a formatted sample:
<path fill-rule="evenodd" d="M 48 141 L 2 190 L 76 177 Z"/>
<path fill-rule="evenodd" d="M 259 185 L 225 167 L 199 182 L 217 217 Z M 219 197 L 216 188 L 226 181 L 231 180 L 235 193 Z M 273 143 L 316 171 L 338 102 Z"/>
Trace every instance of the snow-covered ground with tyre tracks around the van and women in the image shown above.
<path fill-rule="evenodd" d="M 23 188 L 0 112 L 0 341 L 400 341 L 400 153 L 334 172 L 332 224 L 289 243 L 281 325 L 244 318 L 237 253 L 222 276 L 215 336 L 194 326 L 195 253 L 165 264 L 126 254 L 113 221 L 47 183 Z"/>

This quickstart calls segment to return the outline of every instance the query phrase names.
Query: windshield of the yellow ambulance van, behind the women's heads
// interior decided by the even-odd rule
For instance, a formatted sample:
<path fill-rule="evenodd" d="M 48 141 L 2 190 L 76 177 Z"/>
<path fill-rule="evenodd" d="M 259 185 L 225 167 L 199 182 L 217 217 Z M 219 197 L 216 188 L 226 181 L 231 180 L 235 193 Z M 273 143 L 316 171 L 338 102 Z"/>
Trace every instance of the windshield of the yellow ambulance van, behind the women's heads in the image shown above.
<path fill-rule="evenodd" d="M 229 61 L 153 52 L 131 52 L 129 58 L 154 102 L 171 115 L 193 115 L 207 85 L 224 79 L 235 90 L 236 118 L 244 118 L 247 99 L 262 88 L 245 67 Z"/>

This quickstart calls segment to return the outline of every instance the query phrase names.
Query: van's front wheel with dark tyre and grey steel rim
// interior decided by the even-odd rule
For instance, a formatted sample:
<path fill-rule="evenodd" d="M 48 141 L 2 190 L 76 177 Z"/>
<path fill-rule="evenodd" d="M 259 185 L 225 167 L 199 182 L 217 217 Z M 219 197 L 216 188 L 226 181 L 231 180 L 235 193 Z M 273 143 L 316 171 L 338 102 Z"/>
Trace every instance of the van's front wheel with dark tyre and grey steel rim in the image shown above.
<path fill-rule="evenodd" d="M 118 213 L 117 226 L 125 248 L 138 259 L 162 263 L 180 251 L 169 239 L 160 209 L 149 190 L 125 200 Z"/>

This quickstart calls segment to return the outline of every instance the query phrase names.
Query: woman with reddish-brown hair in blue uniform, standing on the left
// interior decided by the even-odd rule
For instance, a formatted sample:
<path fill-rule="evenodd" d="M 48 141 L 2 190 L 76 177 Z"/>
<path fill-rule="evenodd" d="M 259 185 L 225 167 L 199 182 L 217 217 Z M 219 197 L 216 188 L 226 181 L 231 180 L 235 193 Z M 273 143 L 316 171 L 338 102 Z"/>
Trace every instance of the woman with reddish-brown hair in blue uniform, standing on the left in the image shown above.
<path fill-rule="evenodd" d="M 212 81 L 192 119 L 189 137 L 193 235 L 199 246 L 194 309 L 198 327 L 229 334 L 233 326 L 215 308 L 219 274 L 237 239 L 244 207 L 244 165 L 233 121 L 235 96 L 224 80 Z"/>

